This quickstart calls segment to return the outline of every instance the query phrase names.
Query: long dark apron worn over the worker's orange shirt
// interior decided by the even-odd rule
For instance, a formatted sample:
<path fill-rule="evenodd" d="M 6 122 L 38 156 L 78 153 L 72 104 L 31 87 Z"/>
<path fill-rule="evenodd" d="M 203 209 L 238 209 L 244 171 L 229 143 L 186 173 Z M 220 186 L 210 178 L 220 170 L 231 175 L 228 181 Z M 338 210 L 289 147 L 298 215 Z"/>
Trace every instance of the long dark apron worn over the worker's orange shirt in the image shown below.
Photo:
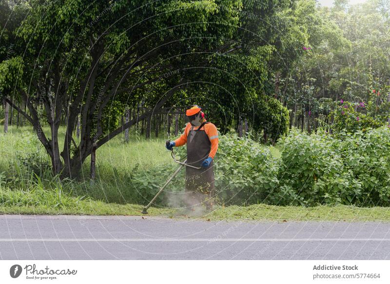
<path fill-rule="evenodd" d="M 204 131 L 206 123 L 209 122 L 203 122 L 197 130 L 194 130 L 194 126 L 192 126 L 187 136 L 186 163 L 195 167 L 199 167 L 210 154 L 211 142 Z M 202 128 L 203 130 L 200 130 Z M 211 203 L 211 198 L 214 196 L 214 160 L 207 168 L 186 167 L 186 192 L 191 193 L 197 199 L 208 197 L 206 205 Z"/>

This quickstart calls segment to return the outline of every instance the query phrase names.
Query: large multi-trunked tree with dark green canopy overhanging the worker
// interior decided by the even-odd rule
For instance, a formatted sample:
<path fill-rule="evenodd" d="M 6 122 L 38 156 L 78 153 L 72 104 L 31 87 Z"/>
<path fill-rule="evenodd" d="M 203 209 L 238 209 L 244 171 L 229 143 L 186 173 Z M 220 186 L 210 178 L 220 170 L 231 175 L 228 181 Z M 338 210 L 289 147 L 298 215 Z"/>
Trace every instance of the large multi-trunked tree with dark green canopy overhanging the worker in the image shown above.
<path fill-rule="evenodd" d="M 20 84 L 7 102 L 33 124 L 53 172 L 73 178 L 94 145 L 98 149 L 164 106 L 192 104 L 199 94 L 199 101 L 217 110 L 211 116 L 225 114 L 226 127 L 243 116 L 251 119 L 258 101 L 268 103 L 270 64 L 280 38 L 287 36 L 275 37 L 269 22 L 292 3 L 31 0 L 27 5 L 15 40 L 22 48 L 17 54 Z M 17 100 L 26 103 L 27 111 Z M 118 114 L 141 102 L 148 111 L 117 125 Z M 283 108 L 271 102 L 275 110 Z M 63 115 L 66 132 L 60 147 Z"/>

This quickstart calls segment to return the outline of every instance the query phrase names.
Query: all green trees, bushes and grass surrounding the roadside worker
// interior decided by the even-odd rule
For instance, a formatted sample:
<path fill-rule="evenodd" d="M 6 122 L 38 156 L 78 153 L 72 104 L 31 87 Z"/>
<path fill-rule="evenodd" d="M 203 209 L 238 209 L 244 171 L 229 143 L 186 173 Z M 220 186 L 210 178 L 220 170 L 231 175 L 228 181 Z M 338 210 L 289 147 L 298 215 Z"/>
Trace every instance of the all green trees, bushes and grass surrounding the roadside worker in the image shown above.
<path fill-rule="evenodd" d="M 389 206 L 389 11 L 379 0 L 1 0 L 1 210 L 136 214 L 176 169 L 164 140 L 194 103 L 220 132 L 216 198 L 229 209 L 213 218 Z M 156 214 L 183 206 L 183 179 Z"/>

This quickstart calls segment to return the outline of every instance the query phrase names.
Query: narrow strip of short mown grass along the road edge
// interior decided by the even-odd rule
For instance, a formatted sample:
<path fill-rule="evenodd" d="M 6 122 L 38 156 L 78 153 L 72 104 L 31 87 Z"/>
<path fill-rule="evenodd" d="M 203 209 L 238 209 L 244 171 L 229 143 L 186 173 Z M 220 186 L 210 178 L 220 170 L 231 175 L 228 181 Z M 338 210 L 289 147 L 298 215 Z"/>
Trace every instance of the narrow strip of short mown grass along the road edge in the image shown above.
<path fill-rule="evenodd" d="M 84 201 L 75 206 L 51 207 L 44 205 L 0 206 L 2 214 L 49 214 L 49 215 L 121 215 L 145 216 L 141 214 L 143 206 L 135 204 L 102 203 Z M 191 218 L 180 210 L 154 208 L 148 210 L 148 216 L 167 218 Z M 342 217 L 341 217 L 342 216 Z M 197 219 L 204 221 L 345 221 L 345 222 L 390 222 L 389 208 L 359 208 L 347 205 L 320 205 L 316 207 L 275 206 L 256 204 L 247 207 L 228 206 L 204 214 Z"/>

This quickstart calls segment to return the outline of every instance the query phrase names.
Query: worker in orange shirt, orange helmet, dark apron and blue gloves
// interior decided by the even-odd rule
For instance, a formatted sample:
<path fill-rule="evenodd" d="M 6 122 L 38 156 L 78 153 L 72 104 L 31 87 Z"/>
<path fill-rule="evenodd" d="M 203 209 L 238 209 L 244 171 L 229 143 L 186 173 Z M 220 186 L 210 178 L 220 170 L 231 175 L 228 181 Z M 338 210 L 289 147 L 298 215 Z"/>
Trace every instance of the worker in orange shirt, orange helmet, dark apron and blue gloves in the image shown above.
<path fill-rule="evenodd" d="M 187 143 L 187 164 L 201 169 L 186 166 L 185 191 L 189 195 L 189 205 L 203 202 L 207 209 L 212 209 L 214 190 L 214 157 L 218 149 L 218 132 L 215 125 L 206 121 L 198 105 L 187 109 L 187 123 L 183 134 L 166 145 L 168 150 Z"/>

